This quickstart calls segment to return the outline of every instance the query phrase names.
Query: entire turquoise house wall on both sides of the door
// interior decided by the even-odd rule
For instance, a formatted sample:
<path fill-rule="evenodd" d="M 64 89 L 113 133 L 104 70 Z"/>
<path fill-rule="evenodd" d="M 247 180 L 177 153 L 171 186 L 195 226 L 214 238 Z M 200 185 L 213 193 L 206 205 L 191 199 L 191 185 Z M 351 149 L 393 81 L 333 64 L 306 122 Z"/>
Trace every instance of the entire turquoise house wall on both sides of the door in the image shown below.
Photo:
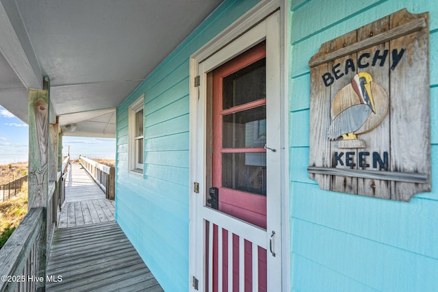
<path fill-rule="evenodd" d="M 224 1 L 117 109 L 116 220 L 166 291 L 188 289 L 189 57 L 255 0 Z M 393 202 L 322 191 L 308 178 L 309 67 L 320 44 L 407 8 L 430 12 L 433 192 Z M 292 291 L 438 291 L 438 5 L 289 1 Z M 127 109 L 144 99 L 144 175 L 128 171 Z"/>

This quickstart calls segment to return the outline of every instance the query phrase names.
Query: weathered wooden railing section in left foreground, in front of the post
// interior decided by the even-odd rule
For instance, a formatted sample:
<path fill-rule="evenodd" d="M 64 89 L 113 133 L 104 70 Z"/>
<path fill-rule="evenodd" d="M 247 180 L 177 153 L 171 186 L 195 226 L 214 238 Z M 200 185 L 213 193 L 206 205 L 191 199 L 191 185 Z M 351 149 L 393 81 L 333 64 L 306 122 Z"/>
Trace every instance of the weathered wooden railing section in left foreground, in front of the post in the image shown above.
<path fill-rule="evenodd" d="M 45 282 L 43 217 L 44 208 L 30 209 L 1 248 L 0 292 L 36 291 L 37 283 Z"/>

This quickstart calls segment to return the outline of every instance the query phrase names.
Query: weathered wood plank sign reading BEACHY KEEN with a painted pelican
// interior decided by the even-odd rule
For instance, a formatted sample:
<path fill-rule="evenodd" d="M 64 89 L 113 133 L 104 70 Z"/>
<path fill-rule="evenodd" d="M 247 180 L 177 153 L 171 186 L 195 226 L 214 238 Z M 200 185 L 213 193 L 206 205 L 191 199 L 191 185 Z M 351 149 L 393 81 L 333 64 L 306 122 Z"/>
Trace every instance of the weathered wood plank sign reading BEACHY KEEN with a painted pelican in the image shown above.
<path fill-rule="evenodd" d="M 428 13 L 400 10 L 322 44 L 311 68 L 309 176 L 409 201 L 430 191 Z"/>

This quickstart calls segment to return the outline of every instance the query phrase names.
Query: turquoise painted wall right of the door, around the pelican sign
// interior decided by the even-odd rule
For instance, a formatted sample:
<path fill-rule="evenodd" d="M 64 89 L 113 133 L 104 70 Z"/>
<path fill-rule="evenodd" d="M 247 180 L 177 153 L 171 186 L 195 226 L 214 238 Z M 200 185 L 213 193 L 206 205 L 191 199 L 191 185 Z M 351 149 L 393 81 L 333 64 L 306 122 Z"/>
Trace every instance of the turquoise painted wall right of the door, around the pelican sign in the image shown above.
<path fill-rule="evenodd" d="M 393 202 L 322 191 L 308 178 L 309 62 L 320 44 L 402 8 L 430 12 L 433 191 Z M 289 1 L 291 291 L 438 291 L 436 1 Z"/>

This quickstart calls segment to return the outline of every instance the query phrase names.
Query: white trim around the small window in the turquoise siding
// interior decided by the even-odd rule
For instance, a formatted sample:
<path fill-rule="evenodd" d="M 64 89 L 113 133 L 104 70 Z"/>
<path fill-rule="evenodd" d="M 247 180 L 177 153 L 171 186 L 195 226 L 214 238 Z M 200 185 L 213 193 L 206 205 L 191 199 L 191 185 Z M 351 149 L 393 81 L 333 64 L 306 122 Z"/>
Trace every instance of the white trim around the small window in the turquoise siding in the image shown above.
<path fill-rule="evenodd" d="M 128 118 L 128 129 L 129 129 L 129 137 L 128 137 L 128 157 L 129 157 L 129 170 L 136 174 L 143 174 L 144 164 L 137 163 L 137 149 L 136 149 L 136 141 L 138 139 L 143 139 L 143 136 L 136 137 L 136 113 L 144 109 L 144 94 L 138 98 L 132 105 L 129 106 L 129 118 Z M 144 112 L 144 111 L 143 111 Z M 143 119 L 144 122 L 144 119 Z M 143 125 L 144 129 L 144 125 Z M 143 140 L 144 141 L 144 140 Z"/>

